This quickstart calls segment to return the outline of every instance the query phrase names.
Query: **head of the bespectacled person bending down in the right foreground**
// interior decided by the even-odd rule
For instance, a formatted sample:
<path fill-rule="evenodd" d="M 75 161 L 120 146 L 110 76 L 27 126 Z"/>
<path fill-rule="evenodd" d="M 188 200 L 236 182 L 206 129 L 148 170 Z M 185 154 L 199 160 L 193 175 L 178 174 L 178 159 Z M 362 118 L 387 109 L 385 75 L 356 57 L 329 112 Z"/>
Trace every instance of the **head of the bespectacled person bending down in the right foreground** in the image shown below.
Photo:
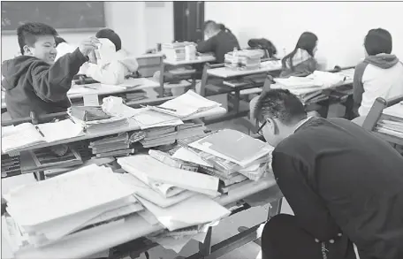
<path fill-rule="evenodd" d="M 285 89 L 264 91 L 258 98 L 254 117 L 258 119 L 258 133 L 273 147 L 293 134 L 295 126 L 307 112 L 297 96 Z"/>

